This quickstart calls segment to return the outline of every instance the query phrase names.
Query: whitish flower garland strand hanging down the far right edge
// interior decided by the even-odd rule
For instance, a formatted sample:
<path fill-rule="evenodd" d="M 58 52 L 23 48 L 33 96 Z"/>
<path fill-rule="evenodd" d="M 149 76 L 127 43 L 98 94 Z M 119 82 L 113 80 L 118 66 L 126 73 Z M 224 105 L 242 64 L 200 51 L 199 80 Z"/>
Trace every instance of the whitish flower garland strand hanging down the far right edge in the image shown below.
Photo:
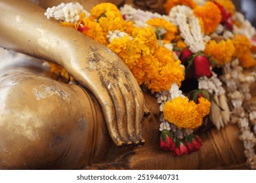
<path fill-rule="evenodd" d="M 249 84 L 255 82 L 256 73 L 245 76 L 238 59 L 227 63 L 223 71 L 221 78 L 226 84 L 228 99 L 232 103 L 231 122 L 240 127 L 240 140 L 244 142 L 247 165 L 256 169 L 256 103 L 251 102 L 249 93 Z"/>

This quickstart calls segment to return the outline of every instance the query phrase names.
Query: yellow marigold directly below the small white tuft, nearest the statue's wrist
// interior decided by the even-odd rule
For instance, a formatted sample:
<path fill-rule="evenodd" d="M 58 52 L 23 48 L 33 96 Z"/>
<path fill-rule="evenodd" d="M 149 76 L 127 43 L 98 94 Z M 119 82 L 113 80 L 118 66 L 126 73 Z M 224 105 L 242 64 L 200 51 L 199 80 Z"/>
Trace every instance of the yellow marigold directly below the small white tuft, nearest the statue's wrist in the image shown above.
<path fill-rule="evenodd" d="M 137 44 L 134 44 L 128 35 L 125 35 L 123 38 L 115 38 L 108 44 L 108 48 L 123 59 L 129 69 L 133 69 L 137 65 L 141 56 Z"/>

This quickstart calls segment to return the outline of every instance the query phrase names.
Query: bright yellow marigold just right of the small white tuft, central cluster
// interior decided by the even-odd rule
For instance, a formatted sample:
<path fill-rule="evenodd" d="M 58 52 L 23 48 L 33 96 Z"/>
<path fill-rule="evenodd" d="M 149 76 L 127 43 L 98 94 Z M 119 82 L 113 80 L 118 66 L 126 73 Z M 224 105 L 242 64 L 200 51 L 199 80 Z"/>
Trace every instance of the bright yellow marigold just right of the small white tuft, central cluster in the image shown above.
<path fill-rule="evenodd" d="M 158 42 L 152 27 L 135 27 L 131 36 L 134 44 L 141 50 L 142 56 L 150 56 L 156 52 Z"/>

